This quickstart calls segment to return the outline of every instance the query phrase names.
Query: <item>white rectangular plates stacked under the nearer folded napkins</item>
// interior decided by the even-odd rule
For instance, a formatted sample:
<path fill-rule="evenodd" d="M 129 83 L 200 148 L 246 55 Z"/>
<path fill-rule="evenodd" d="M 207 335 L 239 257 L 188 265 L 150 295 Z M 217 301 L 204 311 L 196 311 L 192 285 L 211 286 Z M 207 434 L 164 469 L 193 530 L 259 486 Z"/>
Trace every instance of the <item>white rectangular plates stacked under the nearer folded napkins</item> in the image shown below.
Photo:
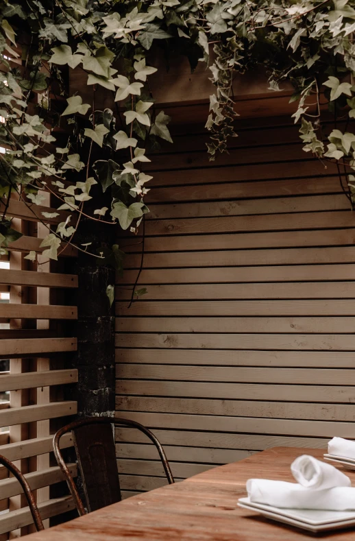
<path fill-rule="evenodd" d="M 355 512 L 318 511 L 317 509 L 280 509 L 240 498 L 238 506 L 262 516 L 308 531 L 327 531 L 355 526 Z"/>

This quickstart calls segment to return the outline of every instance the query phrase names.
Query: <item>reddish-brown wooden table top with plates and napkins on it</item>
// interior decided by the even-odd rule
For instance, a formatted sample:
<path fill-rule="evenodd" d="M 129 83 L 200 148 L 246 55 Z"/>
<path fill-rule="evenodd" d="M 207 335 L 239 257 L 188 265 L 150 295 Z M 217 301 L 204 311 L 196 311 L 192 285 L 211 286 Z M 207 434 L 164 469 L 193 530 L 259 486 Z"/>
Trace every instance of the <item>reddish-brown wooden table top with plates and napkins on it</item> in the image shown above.
<path fill-rule="evenodd" d="M 236 506 L 250 477 L 294 481 L 290 465 L 301 454 L 323 450 L 275 447 L 219 466 L 175 485 L 145 492 L 62 525 L 33 533 L 29 541 L 301 541 L 312 533 L 271 522 Z M 341 468 L 340 468 L 341 469 Z M 355 485 L 355 471 L 346 471 Z M 321 536 L 354 541 L 354 530 Z"/>

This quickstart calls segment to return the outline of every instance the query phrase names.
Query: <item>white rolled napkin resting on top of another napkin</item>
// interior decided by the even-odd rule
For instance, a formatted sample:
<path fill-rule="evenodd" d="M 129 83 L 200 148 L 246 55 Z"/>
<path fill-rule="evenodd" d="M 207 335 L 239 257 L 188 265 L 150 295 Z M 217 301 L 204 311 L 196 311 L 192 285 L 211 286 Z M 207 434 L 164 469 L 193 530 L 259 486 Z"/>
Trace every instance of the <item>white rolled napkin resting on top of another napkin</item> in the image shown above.
<path fill-rule="evenodd" d="M 324 489 L 333 487 L 350 487 L 347 475 L 343 474 L 331 464 L 321 462 L 310 455 L 297 457 L 291 464 L 291 472 L 295 480 L 305 488 Z"/>

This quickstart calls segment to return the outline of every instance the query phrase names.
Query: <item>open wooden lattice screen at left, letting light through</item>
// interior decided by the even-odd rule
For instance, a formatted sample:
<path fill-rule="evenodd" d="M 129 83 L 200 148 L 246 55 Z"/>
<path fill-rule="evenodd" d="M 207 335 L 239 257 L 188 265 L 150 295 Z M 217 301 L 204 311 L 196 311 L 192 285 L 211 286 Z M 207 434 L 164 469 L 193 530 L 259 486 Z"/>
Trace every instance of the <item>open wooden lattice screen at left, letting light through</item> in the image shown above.
<path fill-rule="evenodd" d="M 49 210 L 35 208 L 36 215 Z M 64 214 L 52 221 L 62 221 Z M 7 215 L 23 237 L 0 261 L 0 454 L 27 473 L 40 514 L 48 519 L 73 509 L 69 496 L 58 496 L 65 492 L 49 487 L 62 481 L 51 454 L 52 434 L 77 410 L 76 402 L 63 399 L 63 385 L 77 381 L 77 370 L 67 368 L 77 341 L 66 322 L 77 318 L 76 307 L 67 305 L 73 304 L 68 292 L 77 287 L 77 276 L 65 274 L 75 251 L 66 248 L 58 262 L 49 263 L 40 255 L 47 228 L 31 209 L 14 197 Z M 29 250 L 39 254 L 38 264 L 24 259 Z M 71 443 L 68 436 L 63 446 Z M 75 474 L 74 465 L 71 470 Z M 0 540 L 31 532 L 31 524 L 19 483 L 0 468 Z"/>

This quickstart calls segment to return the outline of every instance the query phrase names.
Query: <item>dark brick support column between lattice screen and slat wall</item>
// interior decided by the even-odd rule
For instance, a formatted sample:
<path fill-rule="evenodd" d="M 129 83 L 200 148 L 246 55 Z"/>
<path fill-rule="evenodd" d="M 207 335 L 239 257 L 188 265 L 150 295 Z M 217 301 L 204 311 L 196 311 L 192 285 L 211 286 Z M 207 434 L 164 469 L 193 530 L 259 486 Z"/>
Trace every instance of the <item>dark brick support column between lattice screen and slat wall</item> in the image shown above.
<path fill-rule="evenodd" d="M 96 187 L 95 187 L 96 188 Z M 105 202 L 101 206 L 104 206 Z M 106 206 L 109 206 L 108 204 Z M 100 204 L 95 197 L 95 208 Z M 115 226 L 82 217 L 75 235 L 77 244 L 91 242 L 90 252 L 111 247 Z M 79 382 L 73 389 L 78 416 L 114 415 L 114 303 L 110 308 L 106 287 L 114 285 L 114 269 L 97 265 L 97 259 L 79 252 L 77 258 L 77 354 L 74 367 Z"/>

